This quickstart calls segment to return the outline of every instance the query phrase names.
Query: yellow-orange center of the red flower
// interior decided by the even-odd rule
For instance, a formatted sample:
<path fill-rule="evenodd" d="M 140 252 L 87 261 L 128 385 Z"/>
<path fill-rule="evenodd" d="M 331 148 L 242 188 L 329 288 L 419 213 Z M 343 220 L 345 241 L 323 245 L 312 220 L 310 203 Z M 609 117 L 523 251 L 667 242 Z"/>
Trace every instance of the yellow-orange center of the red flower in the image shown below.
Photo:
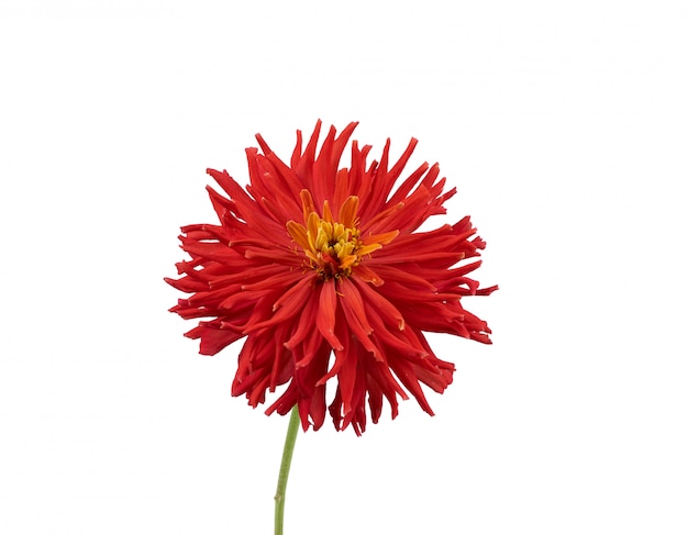
<path fill-rule="evenodd" d="M 287 232 L 303 249 L 306 264 L 329 280 L 348 277 L 364 257 L 391 242 L 398 231 L 360 237 L 358 231 L 358 197 L 349 196 L 340 209 L 335 220 L 330 203 L 324 202 L 322 216 L 315 211 L 313 199 L 308 190 L 301 191 L 304 225 L 296 221 L 287 223 Z"/>

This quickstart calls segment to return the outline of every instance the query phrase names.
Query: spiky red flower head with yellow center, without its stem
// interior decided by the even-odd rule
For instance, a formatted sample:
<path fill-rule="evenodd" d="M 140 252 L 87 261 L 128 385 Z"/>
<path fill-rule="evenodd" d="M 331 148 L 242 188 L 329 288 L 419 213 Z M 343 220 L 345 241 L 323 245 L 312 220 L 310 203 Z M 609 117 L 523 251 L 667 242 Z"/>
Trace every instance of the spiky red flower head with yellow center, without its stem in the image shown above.
<path fill-rule="evenodd" d="M 445 179 L 435 164 L 399 178 L 417 141 L 390 168 L 387 141 L 380 161 L 367 165 L 370 146 L 352 142 L 351 167 L 340 160 L 357 123 L 322 147 L 319 121 L 302 148 L 301 132 L 289 164 L 258 134 L 263 154 L 246 149 L 251 183 L 244 190 L 226 171 L 208 169 L 229 196 L 208 187 L 219 224 L 181 229 L 190 260 L 177 264 L 190 293 L 170 311 L 207 317 L 188 333 L 200 353 L 215 355 L 245 338 L 232 394 L 248 404 L 287 384 L 267 413 L 298 405 L 303 428 L 321 427 L 325 388 L 335 383 L 329 412 L 337 430 L 366 427 L 366 401 L 377 423 L 384 399 L 398 413 L 410 392 L 430 413 L 421 383 L 443 392 L 454 365 L 439 359 L 424 332 L 490 343 L 487 323 L 462 305 L 487 296 L 468 278 L 485 242 L 469 218 L 418 232 L 431 215 L 446 213 Z"/>

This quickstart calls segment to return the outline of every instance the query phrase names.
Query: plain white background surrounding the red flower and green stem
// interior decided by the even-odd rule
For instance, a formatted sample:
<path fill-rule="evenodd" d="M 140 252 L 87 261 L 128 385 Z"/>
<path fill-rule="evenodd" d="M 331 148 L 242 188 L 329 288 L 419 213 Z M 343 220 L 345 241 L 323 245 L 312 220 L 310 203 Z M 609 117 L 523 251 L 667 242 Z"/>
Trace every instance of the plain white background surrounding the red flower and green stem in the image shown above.
<path fill-rule="evenodd" d="M 448 5 L 454 5 L 448 10 Z M 0 532 L 266 534 L 286 419 L 166 310 L 207 167 L 420 140 L 488 242 L 454 384 L 299 437 L 289 534 L 688 533 L 688 4 L 0 2 Z M 441 221 L 437 220 L 437 224 Z"/>

